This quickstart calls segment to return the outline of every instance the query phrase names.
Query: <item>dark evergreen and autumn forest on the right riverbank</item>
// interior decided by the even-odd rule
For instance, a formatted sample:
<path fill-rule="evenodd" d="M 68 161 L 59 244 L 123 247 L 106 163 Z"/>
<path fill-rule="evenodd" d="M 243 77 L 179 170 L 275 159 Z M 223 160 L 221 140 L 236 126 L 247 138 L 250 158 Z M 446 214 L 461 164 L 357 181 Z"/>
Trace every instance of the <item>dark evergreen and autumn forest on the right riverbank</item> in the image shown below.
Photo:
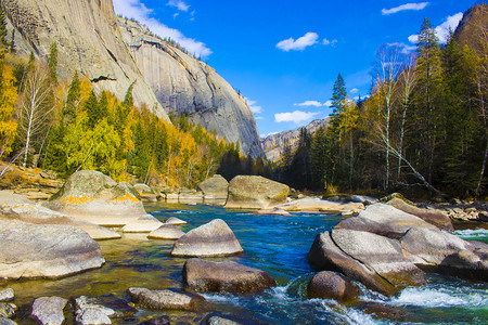
<path fill-rule="evenodd" d="M 486 5 L 472 9 L 468 37 L 446 44 L 429 22 L 416 51 L 383 44 L 372 66 L 371 96 L 347 98 L 338 75 L 326 129 L 300 131 L 282 154 L 282 180 L 316 191 L 415 191 L 425 196 L 484 197 L 488 155 Z"/>

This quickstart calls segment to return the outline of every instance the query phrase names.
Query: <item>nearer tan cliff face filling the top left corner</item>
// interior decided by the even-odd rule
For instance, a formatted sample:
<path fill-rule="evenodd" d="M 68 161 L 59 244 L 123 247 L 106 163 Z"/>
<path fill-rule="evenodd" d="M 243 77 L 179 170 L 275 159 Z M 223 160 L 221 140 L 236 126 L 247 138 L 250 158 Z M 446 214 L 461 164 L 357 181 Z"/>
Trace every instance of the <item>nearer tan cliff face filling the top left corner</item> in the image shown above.
<path fill-rule="evenodd" d="M 8 0 L 2 4 L 15 27 L 18 52 L 46 58 L 55 42 L 61 78 L 80 70 L 99 92 L 110 90 L 119 100 L 136 80 L 136 103 L 155 107 L 157 116 L 169 120 L 119 35 L 112 0 Z"/>

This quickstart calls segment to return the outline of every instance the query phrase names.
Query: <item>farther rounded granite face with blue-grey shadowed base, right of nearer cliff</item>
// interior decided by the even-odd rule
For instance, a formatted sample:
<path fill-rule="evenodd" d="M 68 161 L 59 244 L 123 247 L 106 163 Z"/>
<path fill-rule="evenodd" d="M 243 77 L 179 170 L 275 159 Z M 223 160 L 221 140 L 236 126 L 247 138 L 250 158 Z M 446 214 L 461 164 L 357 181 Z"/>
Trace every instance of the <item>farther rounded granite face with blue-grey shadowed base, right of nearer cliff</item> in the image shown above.
<path fill-rule="evenodd" d="M 124 41 L 168 114 L 184 114 L 195 125 L 252 157 L 264 155 L 256 121 L 244 98 L 206 63 L 168 46 L 137 23 L 118 20 Z"/>

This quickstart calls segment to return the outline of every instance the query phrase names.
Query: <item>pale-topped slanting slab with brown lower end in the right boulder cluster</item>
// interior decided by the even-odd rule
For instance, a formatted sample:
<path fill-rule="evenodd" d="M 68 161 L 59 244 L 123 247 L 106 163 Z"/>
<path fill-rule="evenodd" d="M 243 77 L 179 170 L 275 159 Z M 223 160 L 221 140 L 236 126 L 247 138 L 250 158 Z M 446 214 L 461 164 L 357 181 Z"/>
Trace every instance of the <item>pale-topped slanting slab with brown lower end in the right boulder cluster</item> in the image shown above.
<path fill-rule="evenodd" d="M 424 272 L 403 256 L 398 240 L 345 229 L 334 229 L 331 237 L 342 251 L 374 270 L 397 288 L 426 283 Z"/>

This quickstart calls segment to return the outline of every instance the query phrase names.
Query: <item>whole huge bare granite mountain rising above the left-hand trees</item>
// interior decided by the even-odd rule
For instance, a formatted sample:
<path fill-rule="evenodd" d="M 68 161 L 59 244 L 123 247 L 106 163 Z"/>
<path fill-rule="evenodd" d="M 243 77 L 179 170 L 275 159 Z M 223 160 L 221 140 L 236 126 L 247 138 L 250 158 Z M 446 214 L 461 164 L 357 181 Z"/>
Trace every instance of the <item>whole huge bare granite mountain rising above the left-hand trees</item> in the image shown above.
<path fill-rule="evenodd" d="M 57 72 L 78 70 L 95 89 L 123 100 L 136 81 L 137 105 L 157 116 L 187 114 L 195 123 L 243 154 L 262 155 L 253 113 L 232 87 L 205 63 L 167 44 L 146 28 L 116 16 L 112 0 L 2 0 L 8 27 L 15 28 L 17 52 L 47 58 L 57 44 Z M 9 32 L 10 36 L 10 32 Z"/>

